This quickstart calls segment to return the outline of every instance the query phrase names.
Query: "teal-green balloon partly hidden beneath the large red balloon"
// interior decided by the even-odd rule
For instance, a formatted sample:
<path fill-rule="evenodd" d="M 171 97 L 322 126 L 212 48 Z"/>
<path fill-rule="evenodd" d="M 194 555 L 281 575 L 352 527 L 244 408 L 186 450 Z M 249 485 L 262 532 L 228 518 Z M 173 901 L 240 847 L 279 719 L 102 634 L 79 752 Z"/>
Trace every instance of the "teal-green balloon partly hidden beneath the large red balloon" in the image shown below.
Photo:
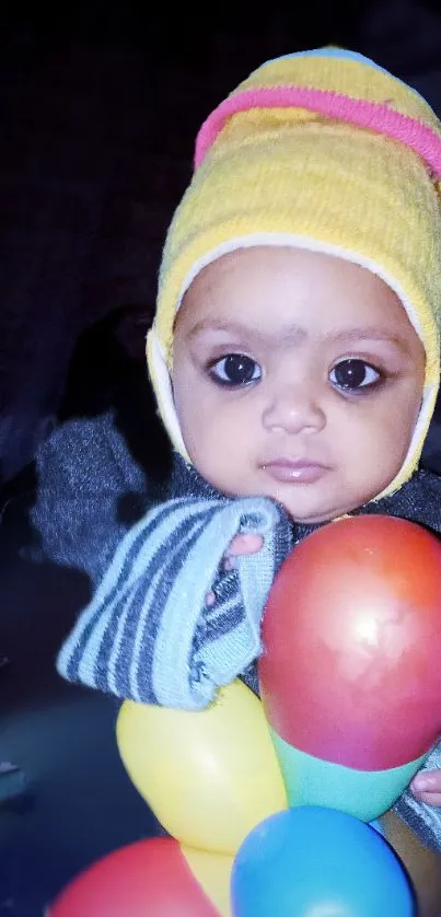
<path fill-rule="evenodd" d="M 427 755 L 387 770 L 355 770 L 300 752 L 270 729 L 288 804 L 326 805 L 372 822 L 394 804 Z"/>

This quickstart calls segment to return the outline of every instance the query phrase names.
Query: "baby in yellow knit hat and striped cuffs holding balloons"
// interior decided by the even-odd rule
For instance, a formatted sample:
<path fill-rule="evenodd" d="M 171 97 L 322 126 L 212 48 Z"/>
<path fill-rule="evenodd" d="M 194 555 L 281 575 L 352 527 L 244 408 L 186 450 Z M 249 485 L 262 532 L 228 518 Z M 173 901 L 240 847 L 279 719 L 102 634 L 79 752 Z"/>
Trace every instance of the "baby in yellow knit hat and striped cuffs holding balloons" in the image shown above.
<path fill-rule="evenodd" d="M 433 112 L 357 54 L 269 61 L 210 115 L 148 338 L 173 499 L 123 541 L 61 674 L 188 709 L 239 675 L 258 690 L 259 622 L 295 543 L 357 512 L 441 532 L 441 483 L 417 471 L 440 374 L 440 177 Z M 397 803 L 436 849 L 439 761 Z"/>

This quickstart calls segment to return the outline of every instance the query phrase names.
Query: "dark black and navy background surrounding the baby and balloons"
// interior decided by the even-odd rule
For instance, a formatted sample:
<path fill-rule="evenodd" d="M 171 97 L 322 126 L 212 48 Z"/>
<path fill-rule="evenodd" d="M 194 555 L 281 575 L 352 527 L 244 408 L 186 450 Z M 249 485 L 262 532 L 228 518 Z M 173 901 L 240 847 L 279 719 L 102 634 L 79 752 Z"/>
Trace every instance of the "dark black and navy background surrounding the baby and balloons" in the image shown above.
<path fill-rule="evenodd" d="M 441 114 L 436 2 L 175 5 L 0 13 L 0 761 L 26 781 L 0 803 L 0 915 L 37 917 L 76 871 L 156 828 L 119 765 L 114 703 L 54 672 L 90 584 L 23 546 L 37 444 L 147 385 L 161 246 L 198 127 L 264 60 L 326 44 L 373 57 Z M 160 436 L 147 404 L 146 457 Z M 436 422 L 429 452 L 437 436 Z"/>

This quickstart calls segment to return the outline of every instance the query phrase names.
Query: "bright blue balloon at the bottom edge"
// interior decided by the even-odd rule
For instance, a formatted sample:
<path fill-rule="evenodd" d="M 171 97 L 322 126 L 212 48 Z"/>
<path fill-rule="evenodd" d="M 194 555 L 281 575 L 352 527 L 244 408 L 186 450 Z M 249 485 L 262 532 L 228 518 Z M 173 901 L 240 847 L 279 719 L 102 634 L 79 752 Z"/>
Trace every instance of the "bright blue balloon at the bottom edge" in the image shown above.
<path fill-rule="evenodd" d="M 231 878 L 234 917 L 413 917 L 399 860 L 374 828 L 334 809 L 271 815 L 245 838 Z"/>

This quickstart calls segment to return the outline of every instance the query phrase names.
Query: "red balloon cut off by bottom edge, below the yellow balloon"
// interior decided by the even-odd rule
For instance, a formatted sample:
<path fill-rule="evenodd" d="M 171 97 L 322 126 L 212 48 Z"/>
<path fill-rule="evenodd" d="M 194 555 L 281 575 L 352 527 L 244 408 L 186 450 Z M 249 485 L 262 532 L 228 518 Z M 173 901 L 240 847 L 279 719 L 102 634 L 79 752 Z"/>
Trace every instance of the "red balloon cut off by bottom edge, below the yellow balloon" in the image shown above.
<path fill-rule="evenodd" d="M 74 879 L 47 917 L 217 917 L 177 840 L 154 837 L 109 854 Z"/>

